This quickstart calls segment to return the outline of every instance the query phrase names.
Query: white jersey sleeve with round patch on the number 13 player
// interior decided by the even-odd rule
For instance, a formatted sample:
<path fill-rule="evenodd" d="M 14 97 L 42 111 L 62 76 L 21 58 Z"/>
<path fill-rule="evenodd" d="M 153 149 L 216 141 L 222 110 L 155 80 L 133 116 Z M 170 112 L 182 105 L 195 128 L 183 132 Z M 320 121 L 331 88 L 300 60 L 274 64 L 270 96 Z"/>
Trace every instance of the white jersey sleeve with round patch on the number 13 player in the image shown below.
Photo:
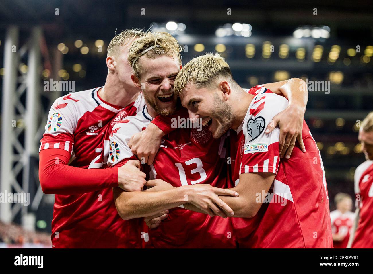
<path fill-rule="evenodd" d="M 108 166 L 121 166 L 128 160 L 137 159 L 129 148 L 128 142 L 135 133 L 144 130 L 151 120 L 152 117 L 145 106 L 137 115 L 128 116 L 113 127 L 110 134 Z"/>

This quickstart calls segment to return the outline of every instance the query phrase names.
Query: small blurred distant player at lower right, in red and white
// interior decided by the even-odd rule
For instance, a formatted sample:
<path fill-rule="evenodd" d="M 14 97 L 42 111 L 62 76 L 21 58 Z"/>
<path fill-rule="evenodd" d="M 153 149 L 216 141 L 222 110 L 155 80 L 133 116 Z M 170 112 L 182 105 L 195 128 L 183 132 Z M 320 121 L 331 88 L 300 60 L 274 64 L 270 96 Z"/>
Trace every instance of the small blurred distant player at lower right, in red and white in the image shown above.
<path fill-rule="evenodd" d="M 346 248 L 355 214 L 352 212 L 352 198 L 346 193 L 334 197 L 336 210 L 330 212 L 334 248 Z"/>

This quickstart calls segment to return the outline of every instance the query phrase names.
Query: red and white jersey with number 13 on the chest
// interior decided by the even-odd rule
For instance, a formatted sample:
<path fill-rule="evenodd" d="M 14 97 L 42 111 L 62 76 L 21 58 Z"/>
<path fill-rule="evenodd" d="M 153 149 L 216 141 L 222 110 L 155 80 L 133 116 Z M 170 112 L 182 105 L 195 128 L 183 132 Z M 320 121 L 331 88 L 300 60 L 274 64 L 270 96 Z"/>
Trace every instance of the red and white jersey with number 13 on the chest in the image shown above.
<path fill-rule="evenodd" d="M 109 165 L 133 157 L 127 146 L 129 138 L 144 129 L 152 118 L 147 108 L 134 117 L 126 117 L 113 128 L 110 137 Z M 176 129 L 163 137 L 151 166 L 151 178 L 162 179 L 172 186 L 207 183 L 226 188 L 224 138 L 213 139 L 203 127 Z M 139 229 L 143 229 L 142 226 Z M 142 234 L 146 232 L 142 231 Z M 230 218 L 210 217 L 207 214 L 172 208 L 159 227 L 143 237 L 146 247 L 153 248 L 235 248 Z"/>

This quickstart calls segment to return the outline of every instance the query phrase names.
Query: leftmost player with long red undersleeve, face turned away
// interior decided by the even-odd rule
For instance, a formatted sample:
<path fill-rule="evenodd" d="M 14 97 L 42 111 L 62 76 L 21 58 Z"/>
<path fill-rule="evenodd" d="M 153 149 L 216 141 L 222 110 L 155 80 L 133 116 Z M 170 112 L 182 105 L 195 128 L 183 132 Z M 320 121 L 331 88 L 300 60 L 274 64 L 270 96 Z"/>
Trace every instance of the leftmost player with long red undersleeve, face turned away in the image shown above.
<path fill-rule="evenodd" d="M 118 216 L 112 192 L 113 187 L 142 190 L 145 174 L 138 169 L 140 161 L 128 161 L 119 169 L 104 167 L 112 127 L 145 104 L 141 89 L 132 83 L 127 61 L 131 43 L 145 35 L 141 29 L 117 34 L 107 49 L 104 86 L 65 95 L 51 106 L 40 145 L 39 179 L 44 193 L 56 194 L 54 248 L 142 246 L 141 235 Z M 162 132 L 153 126 L 154 131 L 149 126 L 145 132 L 150 139 Z M 97 202 L 97 197 L 102 201 Z"/>

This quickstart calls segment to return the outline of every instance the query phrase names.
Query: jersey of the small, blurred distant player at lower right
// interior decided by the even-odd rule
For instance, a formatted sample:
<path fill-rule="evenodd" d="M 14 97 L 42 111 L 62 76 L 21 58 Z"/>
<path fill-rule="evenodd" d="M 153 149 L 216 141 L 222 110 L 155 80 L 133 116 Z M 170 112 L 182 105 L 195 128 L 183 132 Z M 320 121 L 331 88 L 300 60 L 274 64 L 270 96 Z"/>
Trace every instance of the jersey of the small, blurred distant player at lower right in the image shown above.
<path fill-rule="evenodd" d="M 342 213 L 339 210 L 330 212 L 330 219 L 332 223 L 332 233 L 339 234 L 343 239 L 339 242 L 333 241 L 334 248 L 346 248 L 348 239 L 350 238 L 350 231 L 354 223 L 355 214 L 352 211 Z"/>

